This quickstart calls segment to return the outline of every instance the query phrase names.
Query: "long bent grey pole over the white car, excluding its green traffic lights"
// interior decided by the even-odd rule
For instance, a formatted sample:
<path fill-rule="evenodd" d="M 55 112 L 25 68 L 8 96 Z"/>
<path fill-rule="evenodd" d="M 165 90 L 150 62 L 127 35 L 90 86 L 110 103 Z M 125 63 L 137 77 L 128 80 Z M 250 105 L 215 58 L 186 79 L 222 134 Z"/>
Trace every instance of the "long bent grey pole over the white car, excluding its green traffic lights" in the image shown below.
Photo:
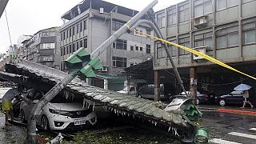
<path fill-rule="evenodd" d="M 146 8 L 136 14 L 134 18 L 131 18 L 126 25 L 134 26 L 134 24 L 157 3 L 158 0 L 154 0 L 153 2 L 151 2 L 149 6 L 146 6 Z M 100 54 L 102 54 L 102 52 L 104 52 L 114 41 L 116 41 L 122 34 L 126 33 L 126 31 L 129 30 L 127 26 L 122 26 L 110 38 L 103 42 L 101 46 L 98 46 L 98 48 L 94 50 L 90 57 L 97 58 Z M 68 83 L 70 83 L 78 75 L 78 71 L 79 70 L 74 70 L 70 74 L 66 75 L 66 77 L 63 78 L 61 82 L 58 82 L 50 91 L 48 91 L 42 97 L 42 99 L 40 99 L 38 103 L 35 104 L 28 119 L 26 143 L 38 143 L 38 136 L 36 134 L 36 119 L 38 118 L 38 114 L 40 114 L 43 106 L 46 106 L 46 104 L 50 102 L 51 99 L 53 99 Z"/>

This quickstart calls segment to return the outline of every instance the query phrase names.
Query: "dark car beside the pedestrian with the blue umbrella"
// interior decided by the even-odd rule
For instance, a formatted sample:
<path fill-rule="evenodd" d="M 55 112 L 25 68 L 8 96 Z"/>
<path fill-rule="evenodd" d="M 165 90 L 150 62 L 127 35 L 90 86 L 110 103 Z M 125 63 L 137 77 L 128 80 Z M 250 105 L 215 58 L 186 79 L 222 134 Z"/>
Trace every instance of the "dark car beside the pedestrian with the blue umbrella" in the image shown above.
<path fill-rule="evenodd" d="M 226 106 L 226 104 L 242 104 L 244 98 L 242 91 L 232 91 L 230 94 L 216 96 L 214 101 L 220 106 Z"/>

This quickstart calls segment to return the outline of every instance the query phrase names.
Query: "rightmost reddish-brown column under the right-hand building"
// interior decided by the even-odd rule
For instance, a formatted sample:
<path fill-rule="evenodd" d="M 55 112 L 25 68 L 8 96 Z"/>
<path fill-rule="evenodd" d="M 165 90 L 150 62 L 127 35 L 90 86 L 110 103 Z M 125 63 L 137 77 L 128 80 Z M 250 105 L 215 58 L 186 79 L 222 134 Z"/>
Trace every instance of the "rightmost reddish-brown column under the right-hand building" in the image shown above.
<path fill-rule="evenodd" d="M 194 100 L 196 105 L 197 98 L 197 67 L 190 67 L 190 98 Z"/>

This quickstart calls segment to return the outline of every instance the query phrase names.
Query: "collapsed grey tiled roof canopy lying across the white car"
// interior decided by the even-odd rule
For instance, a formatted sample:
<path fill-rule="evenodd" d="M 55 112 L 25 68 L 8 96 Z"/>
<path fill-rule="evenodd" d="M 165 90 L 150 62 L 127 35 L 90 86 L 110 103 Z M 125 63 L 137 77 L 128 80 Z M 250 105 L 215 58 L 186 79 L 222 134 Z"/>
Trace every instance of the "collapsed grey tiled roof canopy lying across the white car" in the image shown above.
<path fill-rule="evenodd" d="M 62 71 L 24 60 L 17 65 L 6 64 L 6 72 L 0 73 L 0 78 L 2 79 L 17 83 L 22 82 L 31 87 L 40 85 L 40 83 L 54 86 L 65 76 L 66 73 Z M 42 87 L 38 86 L 38 89 L 42 89 Z M 70 92 L 75 94 L 81 94 L 84 98 L 98 102 L 102 106 L 107 106 L 120 114 L 130 114 L 135 117 L 146 118 L 150 122 L 173 127 L 178 131 L 182 131 L 182 133 L 194 133 L 194 125 L 190 123 L 185 114 L 166 112 L 154 106 L 154 102 L 150 100 L 90 86 L 78 78 L 74 78 L 66 86 L 66 90 L 70 90 Z"/>

